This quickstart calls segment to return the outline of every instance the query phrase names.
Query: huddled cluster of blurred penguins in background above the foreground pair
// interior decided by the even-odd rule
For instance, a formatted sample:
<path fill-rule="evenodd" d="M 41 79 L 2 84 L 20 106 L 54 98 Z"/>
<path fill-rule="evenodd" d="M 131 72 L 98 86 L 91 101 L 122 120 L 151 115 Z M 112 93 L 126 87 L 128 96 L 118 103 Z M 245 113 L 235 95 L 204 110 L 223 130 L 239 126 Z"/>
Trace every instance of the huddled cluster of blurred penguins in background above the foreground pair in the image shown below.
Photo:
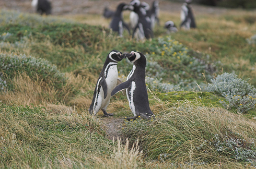
<path fill-rule="evenodd" d="M 130 15 L 131 27 L 133 29 L 133 38 L 136 32 L 138 39 L 149 39 L 154 37 L 153 29 L 155 20 L 159 23 L 159 7 L 157 1 L 153 2 L 151 10 L 149 10 L 148 4 L 145 5 L 145 3 L 143 4 L 139 0 L 131 1 L 129 5 L 124 3 L 119 4 L 117 10 L 113 14 L 112 20 L 110 22 L 110 28 L 113 31 L 118 32 L 120 37 L 123 35 L 123 28 L 127 29 L 130 33 L 129 26 L 123 21 L 123 10 L 131 10 L 131 14 L 133 14 Z M 105 15 L 105 13 L 103 15 Z"/>

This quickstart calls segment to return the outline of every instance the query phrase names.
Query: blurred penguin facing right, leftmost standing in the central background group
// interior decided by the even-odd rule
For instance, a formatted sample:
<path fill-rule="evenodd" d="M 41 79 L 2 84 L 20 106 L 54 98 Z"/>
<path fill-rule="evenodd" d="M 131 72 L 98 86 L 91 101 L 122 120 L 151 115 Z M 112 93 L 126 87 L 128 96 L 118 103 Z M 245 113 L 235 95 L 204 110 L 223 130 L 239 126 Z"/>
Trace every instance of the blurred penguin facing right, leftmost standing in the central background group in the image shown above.
<path fill-rule="evenodd" d="M 123 37 L 123 28 L 126 28 L 127 31 L 130 34 L 130 28 L 129 26 L 123 21 L 123 15 L 122 12 L 123 10 L 126 10 L 127 8 L 129 8 L 130 6 L 121 3 L 118 5 L 117 10 L 115 11 L 112 20 L 110 22 L 110 28 L 115 31 L 118 32 L 120 37 Z"/>

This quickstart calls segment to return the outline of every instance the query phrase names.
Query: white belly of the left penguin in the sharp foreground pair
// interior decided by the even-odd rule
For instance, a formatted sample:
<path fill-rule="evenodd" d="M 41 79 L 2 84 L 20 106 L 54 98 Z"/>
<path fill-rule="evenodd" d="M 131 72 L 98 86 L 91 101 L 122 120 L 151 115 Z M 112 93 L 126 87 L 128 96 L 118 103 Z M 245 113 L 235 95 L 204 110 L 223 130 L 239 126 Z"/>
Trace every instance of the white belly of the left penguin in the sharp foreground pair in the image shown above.
<path fill-rule="evenodd" d="M 101 98 L 102 98 L 102 103 L 101 103 L 101 107 L 100 109 L 107 107 L 111 98 L 111 92 L 112 90 L 117 86 L 117 81 L 118 81 L 118 68 L 117 65 L 115 66 L 110 66 L 110 68 L 108 69 L 108 73 L 106 76 L 106 83 L 108 86 L 108 94 L 106 99 L 104 99 L 104 94 L 103 94 L 103 90 L 102 88 L 100 89 L 100 92 L 102 91 Z"/>

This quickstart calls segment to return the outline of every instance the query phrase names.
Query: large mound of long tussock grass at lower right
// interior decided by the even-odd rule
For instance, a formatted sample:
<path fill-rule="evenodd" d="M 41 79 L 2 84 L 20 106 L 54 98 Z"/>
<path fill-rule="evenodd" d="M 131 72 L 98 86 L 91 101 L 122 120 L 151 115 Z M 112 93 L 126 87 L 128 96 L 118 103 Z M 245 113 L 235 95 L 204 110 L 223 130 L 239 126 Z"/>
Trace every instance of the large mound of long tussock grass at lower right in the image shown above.
<path fill-rule="evenodd" d="M 164 105 L 155 119 L 125 123 L 122 129 L 124 137 L 141 140 L 140 146 L 148 159 L 174 164 L 233 163 L 237 161 L 237 154 L 228 150 L 220 152 L 216 146 L 217 141 L 230 139 L 242 140 L 237 144 L 245 151 L 255 151 L 256 125 L 252 120 L 222 108 L 208 108 L 189 101 L 179 102 L 176 107 L 165 106 L 168 107 Z M 256 159 L 252 160 L 255 163 Z"/>

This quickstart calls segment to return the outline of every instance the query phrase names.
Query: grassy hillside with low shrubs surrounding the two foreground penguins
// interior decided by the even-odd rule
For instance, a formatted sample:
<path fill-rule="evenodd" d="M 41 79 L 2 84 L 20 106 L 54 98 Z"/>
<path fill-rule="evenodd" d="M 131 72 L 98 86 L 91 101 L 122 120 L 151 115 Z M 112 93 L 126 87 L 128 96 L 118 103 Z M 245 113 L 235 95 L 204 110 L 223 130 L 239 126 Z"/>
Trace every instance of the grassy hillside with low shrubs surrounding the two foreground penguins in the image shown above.
<path fill-rule="evenodd" d="M 223 106 L 229 104 L 223 93 L 206 92 L 207 83 L 224 72 L 256 85 L 255 45 L 247 42 L 256 33 L 253 13 L 197 16 L 198 29 L 168 35 L 159 27 L 156 38 L 145 42 L 84 23 L 98 15 L 71 21 L 0 13 L 1 168 L 256 166 L 254 105 L 237 113 L 236 106 Z M 169 17 L 179 22 L 178 15 L 161 13 L 160 24 Z M 123 120 L 117 141 L 109 139 L 107 122 L 132 116 L 126 96 L 113 96 L 107 111 L 114 117 L 87 111 L 113 49 L 146 55 L 149 104 L 156 115 Z M 125 81 L 132 64 L 123 60 L 118 68 Z M 249 96 L 236 99 L 254 99 L 251 88 Z"/>

